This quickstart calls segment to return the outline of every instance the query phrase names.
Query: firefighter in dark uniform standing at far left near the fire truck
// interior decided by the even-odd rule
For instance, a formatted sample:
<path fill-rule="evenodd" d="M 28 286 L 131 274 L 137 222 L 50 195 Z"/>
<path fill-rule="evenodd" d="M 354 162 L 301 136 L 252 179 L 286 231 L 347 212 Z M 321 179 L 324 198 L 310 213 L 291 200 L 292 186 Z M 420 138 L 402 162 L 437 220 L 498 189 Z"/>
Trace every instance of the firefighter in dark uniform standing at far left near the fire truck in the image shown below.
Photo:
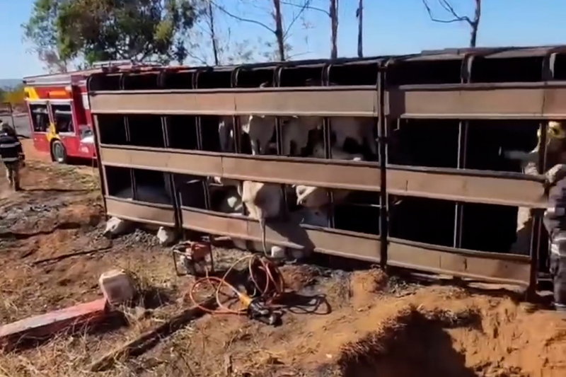
<path fill-rule="evenodd" d="M 6 168 L 6 178 L 10 187 L 14 191 L 19 191 L 21 190 L 20 164 L 25 160 L 22 144 L 10 124 L 0 122 L 0 127 L 0 157 Z"/>

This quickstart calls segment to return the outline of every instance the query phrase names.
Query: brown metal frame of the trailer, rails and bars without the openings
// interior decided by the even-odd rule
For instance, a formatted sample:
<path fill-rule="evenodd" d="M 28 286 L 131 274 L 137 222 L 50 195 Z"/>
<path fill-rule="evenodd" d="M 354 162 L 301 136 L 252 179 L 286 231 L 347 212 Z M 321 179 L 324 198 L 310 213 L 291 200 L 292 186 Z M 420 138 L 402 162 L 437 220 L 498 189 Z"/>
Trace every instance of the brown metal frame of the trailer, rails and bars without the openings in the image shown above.
<path fill-rule="evenodd" d="M 456 277 L 480 279 L 486 282 L 518 284 L 536 289 L 541 209 L 545 207 L 543 177 L 520 173 L 466 169 L 468 120 L 541 120 L 541 138 L 546 137 L 545 121 L 566 118 L 566 81 L 555 81 L 557 54 L 565 47 L 499 48 L 473 50 L 443 50 L 406 57 L 369 59 L 339 59 L 337 61 L 306 61 L 251 66 L 218 67 L 231 69 L 231 88 L 204 89 L 198 87 L 198 76 L 204 69 L 187 68 L 193 72 L 191 89 L 98 91 L 88 79 L 91 111 L 96 130 L 96 146 L 105 197 L 105 209 L 110 216 L 148 224 L 177 227 L 233 238 L 259 241 L 257 221 L 221 214 L 209 209 L 180 207 L 178 199 L 172 205 L 151 204 L 120 199 L 108 194 L 105 166 L 156 170 L 168 173 L 173 186 L 173 173 L 201 177 L 219 176 L 236 180 L 255 180 L 279 184 L 303 184 L 327 189 L 379 192 L 381 197 L 381 236 L 373 236 L 334 228 L 299 224 L 271 224 L 267 242 L 291 248 L 310 245 L 328 255 L 351 257 L 424 272 L 450 274 Z M 473 63 L 482 59 L 513 59 L 543 57 L 543 81 L 533 83 L 478 83 L 474 81 Z M 392 85 L 387 74 L 392 66 L 402 62 L 434 59 L 461 60 L 461 82 L 421 85 Z M 282 70 L 290 66 L 321 64 L 324 86 L 283 87 Z M 330 70 L 338 64 L 376 64 L 378 81 L 372 86 L 328 86 Z M 238 74 L 243 69 L 272 67 L 274 86 L 270 88 L 238 88 Z M 149 70 L 163 75 L 175 75 L 178 70 Z M 131 74 L 124 71 L 122 74 Z M 118 146 L 100 143 L 99 115 L 161 115 L 164 149 L 141 146 Z M 202 149 L 200 115 L 316 115 L 320 117 L 357 116 L 376 118 L 379 135 L 379 162 L 337 161 L 284 156 L 247 156 L 240 153 L 216 153 L 202 150 L 172 149 L 168 141 L 168 117 L 197 116 L 198 149 Z M 457 168 L 424 168 L 395 166 L 386 161 L 391 122 L 399 119 L 453 119 L 458 126 Z M 127 121 L 126 121 L 127 122 Z M 235 127 L 239 124 L 234 122 Z M 328 146 L 328 122 L 325 122 L 325 152 Z M 125 127 L 129 125 L 125 124 Z M 277 146 L 281 151 L 280 124 L 277 122 Z M 237 130 L 237 129 L 236 129 Z M 235 131 L 236 131 L 235 130 Z M 236 135 L 239 133 L 236 132 Z M 236 138 L 238 139 L 238 138 Z M 544 142 L 543 142 L 543 145 Z M 236 151 L 239 150 L 236 141 Z M 545 158 L 541 148 L 541 166 Z M 132 187 L 135 182 L 132 173 Z M 135 188 L 133 189 L 135 190 Z M 205 192 L 207 188 L 204 189 Z M 176 198 L 176 190 L 174 197 Z M 388 236 L 388 195 L 447 199 L 457 203 L 454 214 L 454 247 L 429 245 Z M 205 195 L 208 197 L 208 195 Z M 208 201 L 209 199 L 207 199 Z M 529 207 L 533 213 L 533 233 L 530 257 L 464 250 L 461 246 L 461 203 L 502 204 Z M 332 224 L 330 224 L 332 225 Z"/>

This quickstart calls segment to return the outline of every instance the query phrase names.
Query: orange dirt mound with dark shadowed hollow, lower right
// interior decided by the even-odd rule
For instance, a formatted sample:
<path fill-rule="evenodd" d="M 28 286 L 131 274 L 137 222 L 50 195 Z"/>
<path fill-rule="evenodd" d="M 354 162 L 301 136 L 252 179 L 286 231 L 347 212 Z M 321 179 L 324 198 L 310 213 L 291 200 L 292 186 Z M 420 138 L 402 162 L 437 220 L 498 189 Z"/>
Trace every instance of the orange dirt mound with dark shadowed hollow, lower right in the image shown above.
<path fill-rule="evenodd" d="M 566 376 L 566 318 L 510 298 L 427 288 L 327 328 L 345 340 L 313 353 L 327 376 Z"/>

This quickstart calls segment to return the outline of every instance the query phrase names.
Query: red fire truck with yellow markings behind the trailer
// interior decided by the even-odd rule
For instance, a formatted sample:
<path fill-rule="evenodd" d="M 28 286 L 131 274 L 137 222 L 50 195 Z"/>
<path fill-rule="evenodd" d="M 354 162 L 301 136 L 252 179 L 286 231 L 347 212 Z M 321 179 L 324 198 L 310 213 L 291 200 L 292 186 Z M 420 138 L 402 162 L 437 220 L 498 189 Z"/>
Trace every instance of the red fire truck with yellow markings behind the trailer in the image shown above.
<path fill-rule="evenodd" d="M 129 61 L 97 62 L 93 69 L 23 79 L 35 149 L 50 153 L 58 163 L 96 158 L 86 79 L 103 69 L 131 65 Z"/>

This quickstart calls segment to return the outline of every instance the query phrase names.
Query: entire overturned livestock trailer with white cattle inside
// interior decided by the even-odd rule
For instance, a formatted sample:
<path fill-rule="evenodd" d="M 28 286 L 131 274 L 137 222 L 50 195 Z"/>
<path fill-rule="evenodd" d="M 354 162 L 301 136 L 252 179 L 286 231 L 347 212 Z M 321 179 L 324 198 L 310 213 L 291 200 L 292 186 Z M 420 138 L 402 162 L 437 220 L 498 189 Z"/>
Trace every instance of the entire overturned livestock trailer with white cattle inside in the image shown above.
<path fill-rule="evenodd" d="M 106 211 L 255 243 L 265 224 L 269 245 L 534 289 L 543 177 L 502 151 L 531 151 L 539 132 L 545 169 L 546 124 L 566 116 L 565 52 L 94 74 Z"/>

